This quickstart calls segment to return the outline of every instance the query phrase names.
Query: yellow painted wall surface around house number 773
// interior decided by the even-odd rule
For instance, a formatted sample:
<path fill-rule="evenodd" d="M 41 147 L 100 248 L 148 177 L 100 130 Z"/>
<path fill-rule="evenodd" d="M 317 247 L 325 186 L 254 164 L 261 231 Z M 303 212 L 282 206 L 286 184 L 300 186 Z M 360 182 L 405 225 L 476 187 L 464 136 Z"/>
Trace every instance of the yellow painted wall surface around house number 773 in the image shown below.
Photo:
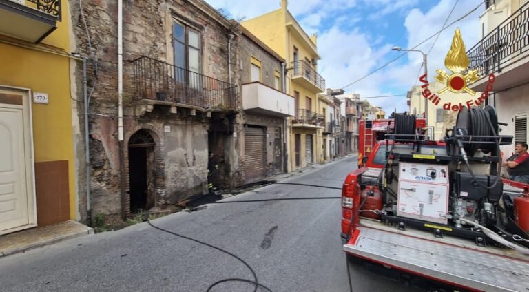
<path fill-rule="evenodd" d="M 66 52 L 69 48 L 70 13 L 62 2 L 62 21 L 43 40 Z M 32 44 L 28 44 L 32 45 Z M 35 48 L 40 48 L 39 45 Z M 28 88 L 48 94 L 49 104 L 32 103 L 34 162 L 68 160 L 70 219 L 76 218 L 75 160 L 70 99 L 70 59 L 39 50 L 0 43 L 0 85 Z M 38 196 L 38 195 L 37 195 Z"/>

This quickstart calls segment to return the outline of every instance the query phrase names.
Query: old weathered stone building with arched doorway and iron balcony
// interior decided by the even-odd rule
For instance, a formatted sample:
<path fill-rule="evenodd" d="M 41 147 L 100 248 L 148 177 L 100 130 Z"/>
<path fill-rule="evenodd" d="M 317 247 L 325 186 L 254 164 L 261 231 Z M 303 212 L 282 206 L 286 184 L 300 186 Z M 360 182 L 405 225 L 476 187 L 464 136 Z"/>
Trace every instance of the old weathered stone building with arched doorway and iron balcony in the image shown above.
<path fill-rule="evenodd" d="M 238 183 L 234 24 L 200 0 L 123 1 L 121 94 L 116 1 L 79 3 L 70 7 L 75 51 L 94 60 L 87 76 L 90 165 L 80 159 L 77 167 L 81 219 L 163 209 L 207 193 L 213 175 L 218 184 Z M 82 68 L 73 70 L 82 96 Z M 84 143 L 76 136 L 78 157 Z"/>

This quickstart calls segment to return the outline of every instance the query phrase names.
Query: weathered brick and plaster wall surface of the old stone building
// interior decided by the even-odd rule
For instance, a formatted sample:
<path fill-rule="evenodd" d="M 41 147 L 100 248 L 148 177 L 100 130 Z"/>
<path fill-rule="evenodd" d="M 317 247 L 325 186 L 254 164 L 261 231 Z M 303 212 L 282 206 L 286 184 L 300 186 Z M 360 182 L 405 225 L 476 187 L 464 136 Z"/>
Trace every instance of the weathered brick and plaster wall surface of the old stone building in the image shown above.
<path fill-rule="evenodd" d="M 203 8 L 201 11 L 196 6 Z M 88 35 L 81 19 L 79 1 L 71 1 L 72 26 L 76 52 L 96 59 L 89 65 L 89 90 L 95 85 L 90 102 L 90 155 L 92 171 L 92 214 L 121 213 L 120 165 L 117 140 L 118 112 L 118 63 L 117 63 L 117 5 L 112 0 L 85 0 L 83 12 L 92 43 L 89 49 Z M 123 59 L 124 94 L 126 106 L 138 98 L 134 80 L 133 63 L 139 56 L 172 63 L 172 23 L 174 19 L 190 23 L 201 33 L 202 74 L 222 81 L 228 80 L 227 72 L 227 23 L 220 19 L 209 6 L 198 0 L 142 0 L 123 1 Z M 219 23 L 219 21 L 221 23 Z M 224 21 L 224 22 L 222 22 Z M 223 23 L 223 24 L 222 24 Z M 76 98 L 82 100 L 82 67 L 76 67 Z M 82 114 L 80 123 L 84 123 Z M 165 161 L 165 191 L 167 202 L 201 193 L 207 186 L 207 123 L 201 116 L 189 118 L 177 114 L 147 113 L 136 117 L 125 115 L 125 136 L 137 129 L 152 127 L 153 133 L 165 142 L 161 154 Z M 172 132 L 164 133 L 163 126 L 172 126 Z M 83 127 L 81 127 L 83 128 Z M 191 133 L 191 137 L 189 137 Z M 83 134 L 84 135 L 84 134 Z M 186 140 L 188 139 L 188 140 Z M 84 140 L 80 138 L 80 140 Z M 84 141 L 83 141 L 84 143 Z M 125 145 L 127 141 L 125 140 Z M 84 157 L 83 149 L 76 153 Z M 126 156 L 125 156 L 126 157 Z M 190 162 L 191 161 L 191 162 Z M 125 161 L 125 165 L 127 162 Z M 83 163 L 79 173 L 83 173 Z M 125 172 L 128 170 L 125 167 Z M 128 179 L 128 178 L 126 178 Z M 85 220 L 85 178 L 79 176 L 79 211 Z"/>

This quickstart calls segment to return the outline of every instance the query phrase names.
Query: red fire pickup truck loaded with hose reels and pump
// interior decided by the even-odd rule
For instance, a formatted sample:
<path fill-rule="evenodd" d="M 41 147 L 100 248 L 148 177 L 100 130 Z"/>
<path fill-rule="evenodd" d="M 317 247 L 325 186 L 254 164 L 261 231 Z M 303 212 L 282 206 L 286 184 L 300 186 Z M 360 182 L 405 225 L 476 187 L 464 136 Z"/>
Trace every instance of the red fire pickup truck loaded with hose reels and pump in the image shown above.
<path fill-rule="evenodd" d="M 415 116 L 388 123 L 370 167 L 344 181 L 347 257 L 458 291 L 529 291 L 529 185 L 500 177 L 512 136 L 498 134 L 495 109 L 464 108 L 444 142 Z"/>

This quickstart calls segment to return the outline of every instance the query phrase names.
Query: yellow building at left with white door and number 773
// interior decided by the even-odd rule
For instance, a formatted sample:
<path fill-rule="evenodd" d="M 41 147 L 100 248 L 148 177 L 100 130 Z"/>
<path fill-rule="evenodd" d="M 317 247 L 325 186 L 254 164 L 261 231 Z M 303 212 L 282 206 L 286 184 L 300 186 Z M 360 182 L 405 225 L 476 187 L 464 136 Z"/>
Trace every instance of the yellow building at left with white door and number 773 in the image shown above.
<path fill-rule="evenodd" d="M 79 213 L 69 4 L 0 1 L 0 235 Z"/>

